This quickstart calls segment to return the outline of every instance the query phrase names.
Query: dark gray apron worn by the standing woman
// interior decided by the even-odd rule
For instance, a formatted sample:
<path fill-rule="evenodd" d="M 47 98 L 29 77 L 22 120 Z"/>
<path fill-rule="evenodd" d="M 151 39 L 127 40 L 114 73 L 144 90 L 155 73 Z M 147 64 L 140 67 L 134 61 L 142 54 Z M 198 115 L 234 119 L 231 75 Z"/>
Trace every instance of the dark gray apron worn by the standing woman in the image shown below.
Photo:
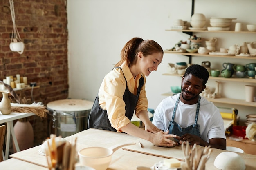
<path fill-rule="evenodd" d="M 121 67 L 115 67 L 115 68 L 120 68 L 122 70 Z M 126 81 L 125 77 L 124 79 Z M 125 116 L 128 117 L 129 120 L 132 119 L 135 106 L 137 105 L 137 102 L 139 99 L 139 93 L 143 85 L 144 85 L 144 78 L 141 77 L 139 79 L 139 87 L 137 89 L 137 95 L 134 95 L 129 91 L 127 86 L 127 81 L 126 81 L 126 89 L 124 91 L 123 100 L 125 103 L 125 111 L 126 111 Z M 94 101 L 92 110 L 88 118 L 88 129 L 89 128 L 97 128 L 97 129 L 110 130 L 110 131 L 117 132 L 117 130 L 111 126 L 111 123 L 108 119 L 107 110 L 104 110 L 103 108 L 101 108 L 101 106 L 99 106 L 98 95 Z"/>

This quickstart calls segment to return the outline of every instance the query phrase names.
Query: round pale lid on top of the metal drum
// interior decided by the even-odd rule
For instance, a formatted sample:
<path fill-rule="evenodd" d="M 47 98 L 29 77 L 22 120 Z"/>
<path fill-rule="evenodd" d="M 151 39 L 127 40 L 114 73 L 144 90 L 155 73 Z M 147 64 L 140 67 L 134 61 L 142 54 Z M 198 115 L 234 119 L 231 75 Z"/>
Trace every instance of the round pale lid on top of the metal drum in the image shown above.
<path fill-rule="evenodd" d="M 93 102 L 81 99 L 64 99 L 49 102 L 47 108 L 56 111 L 76 112 L 92 109 Z"/>

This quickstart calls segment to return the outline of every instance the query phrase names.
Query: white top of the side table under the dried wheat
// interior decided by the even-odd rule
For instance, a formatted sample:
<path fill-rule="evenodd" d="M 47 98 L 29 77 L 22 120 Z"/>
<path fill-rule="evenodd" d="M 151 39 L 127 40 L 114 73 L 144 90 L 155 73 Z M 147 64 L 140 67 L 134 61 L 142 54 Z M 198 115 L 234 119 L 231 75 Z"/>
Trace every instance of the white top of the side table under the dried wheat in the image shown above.
<path fill-rule="evenodd" d="M 21 118 L 24 118 L 24 117 L 33 116 L 33 115 L 35 115 L 35 113 L 16 113 L 16 112 L 11 112 L 8 115 L 3 115 L 2 113 L 0 113 L 0 124 L 8 122 L 8 121 L 13 121 L 13 120 L 21 119 Z"/>

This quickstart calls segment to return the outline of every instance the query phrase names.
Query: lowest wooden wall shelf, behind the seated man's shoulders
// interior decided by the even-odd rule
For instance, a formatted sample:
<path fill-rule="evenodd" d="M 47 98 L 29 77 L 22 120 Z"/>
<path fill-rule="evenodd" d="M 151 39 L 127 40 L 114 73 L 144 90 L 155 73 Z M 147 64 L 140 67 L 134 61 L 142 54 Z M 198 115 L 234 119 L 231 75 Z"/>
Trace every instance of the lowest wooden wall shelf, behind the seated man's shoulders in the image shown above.
<path fill-rule="evenodd" d="M 163 93 L 162 95 L 163 96 L 172 96 L 173 93 L 167 92 L 167 93 Z M 208 99 L 208 98 L 206 98 L 206 99 L 208 101 L 214 102 L 214 103 L 236 104 L 236 105 L 240 105 L 240 106 L 256 107 L 256 102 L 246 102 L 245 100 L 240 100 L 240 99 L 229 99 L 226 97 L 221 97 L 221 98 L 217 98 L 217 99 Z"/>

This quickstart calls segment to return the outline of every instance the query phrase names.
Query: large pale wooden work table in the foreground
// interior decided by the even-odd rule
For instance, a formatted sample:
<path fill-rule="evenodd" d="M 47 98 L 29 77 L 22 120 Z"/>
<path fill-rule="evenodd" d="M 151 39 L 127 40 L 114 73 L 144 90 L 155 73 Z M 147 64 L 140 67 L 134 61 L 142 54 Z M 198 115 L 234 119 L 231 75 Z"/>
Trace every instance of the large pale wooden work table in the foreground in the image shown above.
<path fill-rule="evenodd" d="M 88 129 L 82 132 L 76 133 L 70 137 L 66 137 L 68 141 L 74 141 L 74 138 L 77 137 L 77 147 L 76 150 L 81 148 L 85 148 L 88 146 L 103 146 L 110 148 L 115 145 L 121 145 L 125 143 L 135 142 L 135 145 L 126 146 L 122 149 L 117 150 L 112 155 L 112 161 L 108 170 L 136 170 L 137 166 L 148 166 L 151 167 L 155 163 L 162 161 L 165 158 L 175 157 L 183 159 L 183 152 L 180 146 L 175 146 L 173 148 L 165 148 L 165 147 L 157 147 L 153 146 L 152 143 L 145 141 L 144 139 L 140 139 L 137 137 L 130 136 L 124 133 L 118 132 L 110 132 L 106 130 L 99 129 Z M 141 148 L 137 141 L 140 141 L 144 146 Z M 22 160 L 22 165 L 25 162 L 31 166 L 40 166 L 42 170 L 47 167 L 46 157 L 39 155 L 37 153 L 40 146 L 36 146 L 34 148 L 30 148 L 27 150 L 23 150 L 21 152 L 14 153 L 10 155 L 12 162 L 16 159 Z M 218 170 L 213 162 L 216 156 L 225 152 L 225 150 L 213 149 L 209 160 L 206 163 L 205 170 Z M 256 155 L 238 153 L 241 155 L 246 164 L 246 170 L 255 170 L 256 165 L 254 161 L 256 160 Z M 157 156 L 156 156 L 157 155 Z M 3 161 L 0 163 L 0 167 L 7 166 L 7 164 L 11 163 Z M 36 168 L 25 168 L 26 170 L 34 170 Z M 13 168 L 12 170 L 19 170 L 20 167 Z"/>

